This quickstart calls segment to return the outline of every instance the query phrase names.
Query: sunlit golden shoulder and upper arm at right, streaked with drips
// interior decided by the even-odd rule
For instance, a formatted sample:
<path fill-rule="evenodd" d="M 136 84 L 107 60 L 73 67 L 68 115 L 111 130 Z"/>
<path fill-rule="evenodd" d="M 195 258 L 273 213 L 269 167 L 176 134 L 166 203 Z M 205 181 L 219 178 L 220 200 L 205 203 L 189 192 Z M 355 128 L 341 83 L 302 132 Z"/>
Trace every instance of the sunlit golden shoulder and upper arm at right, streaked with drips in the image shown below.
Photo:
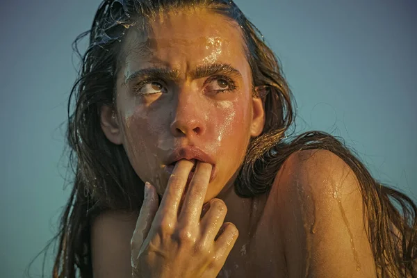
<path fill-rule="evenodd" d="M 293 154 L 271 191 L 288 277 L 375 277 L 359 183 L 325 150 Z"/>

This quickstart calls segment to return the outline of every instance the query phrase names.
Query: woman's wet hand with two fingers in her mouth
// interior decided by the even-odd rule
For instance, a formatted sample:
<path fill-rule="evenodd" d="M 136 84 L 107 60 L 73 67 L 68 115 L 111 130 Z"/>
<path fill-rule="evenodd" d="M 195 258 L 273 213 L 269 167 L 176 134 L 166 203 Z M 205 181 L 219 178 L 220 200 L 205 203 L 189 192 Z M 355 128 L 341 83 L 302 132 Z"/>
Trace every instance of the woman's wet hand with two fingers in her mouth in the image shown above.
<path fill-rule="evenodd" d="M 202 206 L 212 166 L 197 163 L 181 206 L 191 161 L 175 165 L 161 206 L 153 186 L 147 195 L 131 239 L 134 278 L 216 277 L 238 238 L 234 224 L 223 224 L 227 207 L 221 199 Z"/>

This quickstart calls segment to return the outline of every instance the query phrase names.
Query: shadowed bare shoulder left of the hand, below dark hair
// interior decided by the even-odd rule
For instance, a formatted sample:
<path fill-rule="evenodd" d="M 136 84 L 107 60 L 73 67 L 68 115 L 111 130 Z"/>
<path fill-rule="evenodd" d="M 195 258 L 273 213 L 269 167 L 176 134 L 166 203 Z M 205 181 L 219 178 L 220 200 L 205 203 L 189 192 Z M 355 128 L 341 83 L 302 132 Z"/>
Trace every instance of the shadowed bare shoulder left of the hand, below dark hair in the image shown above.
<path fill-rule="evenodd" d="M 94 277 L 131 277 L 130 241 L 139 213 L 106 211 L 91 223 Z"/>

